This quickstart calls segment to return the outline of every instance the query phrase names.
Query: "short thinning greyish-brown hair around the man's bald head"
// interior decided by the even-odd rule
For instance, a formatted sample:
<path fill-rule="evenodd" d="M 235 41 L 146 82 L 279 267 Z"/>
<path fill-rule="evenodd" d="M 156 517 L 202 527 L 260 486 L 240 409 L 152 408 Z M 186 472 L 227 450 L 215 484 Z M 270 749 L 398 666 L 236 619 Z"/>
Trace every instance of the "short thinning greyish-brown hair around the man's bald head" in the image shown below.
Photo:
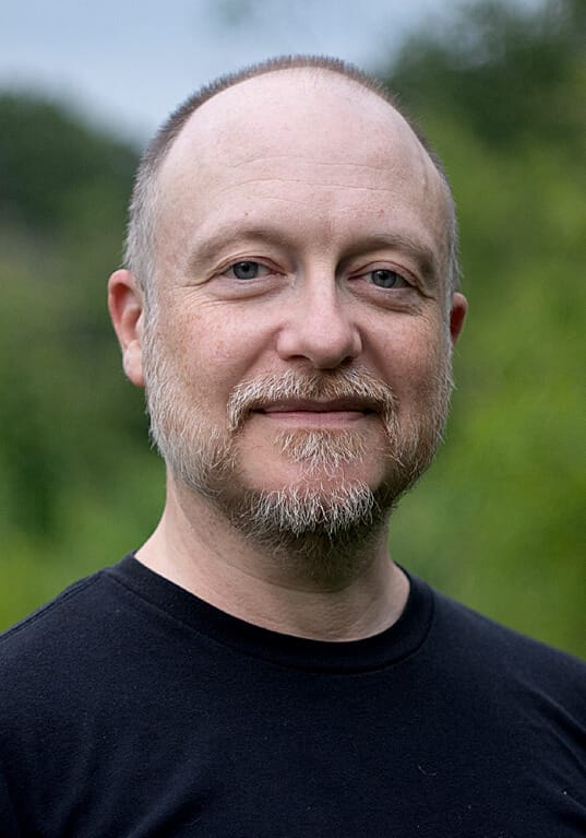
<path fill-rule="evenodd" d="M 171 113 L 146 146 L 136 172 L 130 201 L 124 267 L 134 275 L 143 293 L 147 310 L 155 300 L 155 248 L 159 204 L 158 174 L 175 140 L 191 115 L 216 94 L 258 75 L 294 69 L 309 69 L 315 72 L 342 75 L 380 96 L 405 119 L 432 161 L 445 187 L 449 208 L 446 229 L 449 245 L 446 287 L 449 295 L 451 296 L 458 287 L 458 229 L 454 199 L 442 162 L 419 126 L 398 106 L 396 97 L 381 81 L 358 67 L 337 58 L 324 56 L 280 56 L 250 64 L 238 72 L 227 73 L 205 84 Z"/>

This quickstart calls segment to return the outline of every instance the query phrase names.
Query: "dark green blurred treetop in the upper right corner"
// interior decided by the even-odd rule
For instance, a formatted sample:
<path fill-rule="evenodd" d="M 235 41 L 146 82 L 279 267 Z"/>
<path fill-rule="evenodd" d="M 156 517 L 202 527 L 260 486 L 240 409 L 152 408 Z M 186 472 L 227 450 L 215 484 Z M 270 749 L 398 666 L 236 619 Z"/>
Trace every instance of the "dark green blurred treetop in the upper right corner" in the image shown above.
<path fill-rule="evenodd" d="M 585 50 L 583 0 L 490 0 L 416 34 L 383 74 L 415 114 L 447 114 L 500 153 L 538 139 L 583 154 Z"/>

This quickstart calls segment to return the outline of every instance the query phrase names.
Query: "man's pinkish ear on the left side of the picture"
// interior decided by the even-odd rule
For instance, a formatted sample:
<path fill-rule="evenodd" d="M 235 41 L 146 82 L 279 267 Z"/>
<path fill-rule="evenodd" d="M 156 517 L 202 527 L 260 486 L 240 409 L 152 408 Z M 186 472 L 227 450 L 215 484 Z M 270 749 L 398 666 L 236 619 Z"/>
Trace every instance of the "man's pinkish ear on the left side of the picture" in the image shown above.
<path fill-rule="evenodd" d="M 130 271 L 115 271 L 108 282 L 108 308 L 122 349 L 124 373 L 136 387 L 144 387 L 142 363 L 143 295 Z"/>

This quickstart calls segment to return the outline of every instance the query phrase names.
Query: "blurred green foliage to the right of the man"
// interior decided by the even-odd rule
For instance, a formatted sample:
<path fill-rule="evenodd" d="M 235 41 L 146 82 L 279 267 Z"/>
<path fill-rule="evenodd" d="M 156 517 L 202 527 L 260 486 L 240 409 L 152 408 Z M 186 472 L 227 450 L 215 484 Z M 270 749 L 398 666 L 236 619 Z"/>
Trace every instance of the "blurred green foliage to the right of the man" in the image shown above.
<path fill-rule="evenodd" d="M 581 654 L 583 10 L 475 7 L 449 36 L 407 44 L 387 72 L 446 161 L 470 303 L 449 444 L 397 515 L 394 552 L 457 599 Z"/>

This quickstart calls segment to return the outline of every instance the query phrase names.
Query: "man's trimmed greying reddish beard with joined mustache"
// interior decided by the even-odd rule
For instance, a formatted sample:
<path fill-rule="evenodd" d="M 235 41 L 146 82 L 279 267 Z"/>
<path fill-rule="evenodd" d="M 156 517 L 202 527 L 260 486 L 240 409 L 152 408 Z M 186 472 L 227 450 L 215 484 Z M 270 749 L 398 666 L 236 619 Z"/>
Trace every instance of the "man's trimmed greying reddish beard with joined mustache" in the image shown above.
<path fill-rule="evenodd" d="M 399 421 L 393 390 L 364 368 L 294 370 L 237 385 L 224 428 L 186 398 L 187 385 L 147 323 L 143 347 L 151 435 L 176 479 L 206 501 L 247 539 L 275 558 L 298 557 L 303 574 L 333 581 L 354 574 L 370 554 L 388 515 L 431 463 L 442 439 L 452 391 L 449 349 L 421 391 L 417 417 Z M 189 379 L 186 378 L 186 381 Z M 297 429 L 277 437 L 278 453 L 299 463 L 302 477 L 278 491 L 247 485 L 239 468 L 240 432 L 251 411 L 280 400 L 350 399 L 376 412 L 385 432 L 381 484 L 344 477 L 344 468 L 366 453 L 354 429 Z M 315 480 L 323 473 L 325 480 Z"/>

